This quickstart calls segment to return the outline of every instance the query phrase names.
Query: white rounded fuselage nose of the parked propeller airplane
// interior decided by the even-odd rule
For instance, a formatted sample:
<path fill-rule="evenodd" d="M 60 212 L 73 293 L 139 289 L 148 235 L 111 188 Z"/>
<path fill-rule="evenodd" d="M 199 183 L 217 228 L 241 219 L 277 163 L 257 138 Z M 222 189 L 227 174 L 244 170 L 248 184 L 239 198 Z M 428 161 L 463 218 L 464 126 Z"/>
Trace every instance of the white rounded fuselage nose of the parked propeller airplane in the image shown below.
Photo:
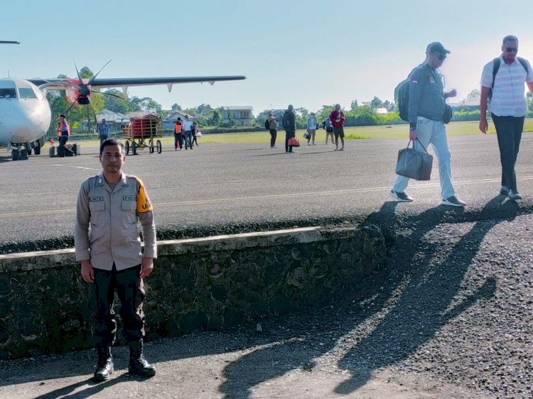
<path fill-rule="evenodd" d="M 0 145 L 24 146 L 43 137 L 50 127 L 50 104 L 35 84 L 0 79 Z"/>

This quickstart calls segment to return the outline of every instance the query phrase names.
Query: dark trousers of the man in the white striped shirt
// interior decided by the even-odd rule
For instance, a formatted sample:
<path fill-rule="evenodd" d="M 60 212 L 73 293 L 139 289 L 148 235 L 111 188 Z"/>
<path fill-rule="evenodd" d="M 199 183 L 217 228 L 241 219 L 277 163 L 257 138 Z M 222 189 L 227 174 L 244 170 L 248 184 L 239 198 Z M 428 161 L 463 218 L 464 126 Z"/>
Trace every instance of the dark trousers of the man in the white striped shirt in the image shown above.
<path fill-rule="evenodd" d="M 517 192 L 515 164 L 517 163 L 522 131 L 524 130 L 524 118 L 524 116 L 497 116 L 492 114 L 498 146 L 500 147 L 502 185 L 515 192 Z"/>

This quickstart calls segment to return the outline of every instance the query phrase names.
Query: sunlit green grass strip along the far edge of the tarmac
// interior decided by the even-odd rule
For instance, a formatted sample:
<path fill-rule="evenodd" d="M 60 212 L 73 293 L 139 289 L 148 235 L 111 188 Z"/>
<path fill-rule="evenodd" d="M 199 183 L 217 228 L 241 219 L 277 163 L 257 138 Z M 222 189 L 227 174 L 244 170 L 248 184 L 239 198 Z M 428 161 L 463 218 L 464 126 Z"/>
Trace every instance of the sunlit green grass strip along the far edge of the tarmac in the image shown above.
<path fill-rule="evenodd" d="M 468 122 L 452 122 L 446 126 L 449 136 L 465 136 L 468 134 L 481 134 L 478 129 L 478 121 Z M 526 119 L 524 124 L 525 132 L 533 131 L 533 119 Z M 409 136 L 409 126 L 404 125 L 382 125 L 382 126 L 357 126 L 348 127 L 344 129 L 346 138 L 348 140 L 368 139 L 368 138 L 402 138 Z M 305 130 L 300 129 L 296 131 L 296 136 L 302 141 L 303 133 Z M 494 124 L 489 124 L 489 133 L 496 133 Z M 285 131 L 278 131 L 277 142 L 284 141 Z M 281 140 L 281 141 L 280 141 Z M 71 138 L 71 141 L 75 141 L 75 136 Z M 316 141 L 325 141 L 325 131 L 319 129 L 316 132 Z M 270 134 L 268 131 L 261 132 L 242 132 L 242 133 L 216 133 L 205 134 L 198 138 L 198 143 L 202 144 L 232 144 L 232 143 L 269 143 Z M 166 136 L 161 138 L 163 146 L 174 145 L 173 136 Z M 99 141 L 83 141 L 82 146 L 97 147 Z"/>

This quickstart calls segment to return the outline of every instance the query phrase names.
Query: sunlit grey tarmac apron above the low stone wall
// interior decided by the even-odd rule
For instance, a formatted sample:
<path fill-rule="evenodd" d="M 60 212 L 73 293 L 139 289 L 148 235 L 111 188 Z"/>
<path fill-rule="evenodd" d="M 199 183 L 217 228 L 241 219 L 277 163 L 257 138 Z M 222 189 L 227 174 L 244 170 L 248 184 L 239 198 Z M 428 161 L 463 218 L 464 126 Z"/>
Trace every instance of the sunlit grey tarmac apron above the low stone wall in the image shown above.
<path fill-rule="evenodd" d="M 163 146 L 161 154 L 139 151 L 126 157 L 124 172 L 146 184 L 154 203 L 158 238 L 183 238 L 243 230 L 362 221 L 392 200 L 389 190 L 405 139 L 346 141 L 284 152 L 268 143 L 202 144 L 188 151 Z M 453 181 L 468 214 L 500 189 L 500 158 L 495 135 L 449 138 Z M 82 155 L 49 158 L 48 146 L 29 160 L 0 158 L 0 249 L 26 249 L 21 243 L 54 241 L 72 246 L 75 203 L 80 183 L 100 172 L 96 147 L 81 143 Z M 431 152 L 431 151 L 430 151 Z M 524 134 L 517 162 L 522 207 L 532 204 L 533 136 Z M 419 213 L 440 204 L 438 165 L 432 180 L 411 181 L 413 203 L 396 211 Z M 456 209 L 459 211 L 459 209 Z"/>

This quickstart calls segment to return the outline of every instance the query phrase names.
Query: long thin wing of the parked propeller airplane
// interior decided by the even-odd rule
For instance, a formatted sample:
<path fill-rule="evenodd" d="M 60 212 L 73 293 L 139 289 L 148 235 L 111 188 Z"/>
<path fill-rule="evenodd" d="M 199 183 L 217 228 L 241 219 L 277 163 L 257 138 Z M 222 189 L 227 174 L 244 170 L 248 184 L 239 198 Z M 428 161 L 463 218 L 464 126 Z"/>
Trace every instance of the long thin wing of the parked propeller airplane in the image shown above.
<path fill-rule="evenodd" d="M 178 83 L 194 83 L 194 82 L 208 82 L 213 84 L 225 80 L 244 80 L 244 75 L 234 76 L 191 76 L 191 77 L 109 77 L 96 78 L 90 80 L 91 87 L 122 87 L 127 89 L 130 86 L 149 86 L 152 84 L 167 84 L 170 92 L 173 84 Z M 28 79 L 38 87 L 46 89 L 65 89 L 72 86 L 70 79 Z"/>

